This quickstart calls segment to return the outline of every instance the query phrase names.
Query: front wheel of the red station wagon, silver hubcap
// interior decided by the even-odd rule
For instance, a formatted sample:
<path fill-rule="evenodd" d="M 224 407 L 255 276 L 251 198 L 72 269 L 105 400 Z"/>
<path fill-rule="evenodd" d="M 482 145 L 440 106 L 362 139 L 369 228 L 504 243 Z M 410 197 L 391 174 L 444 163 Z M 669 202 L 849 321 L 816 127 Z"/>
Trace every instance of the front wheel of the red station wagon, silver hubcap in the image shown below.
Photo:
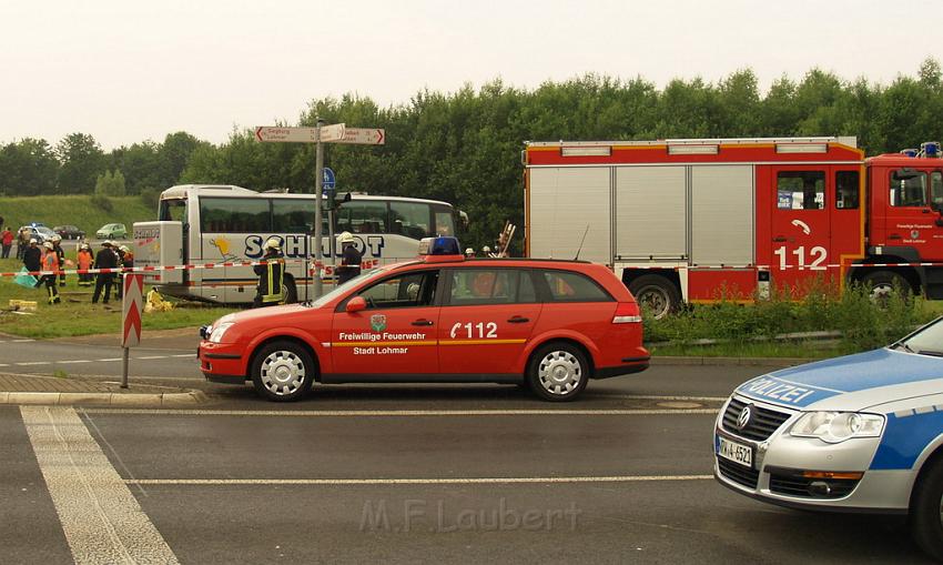
<path fill-rule="evenodd" d="M 262 396 L 275 402 L 303 398 L 314 383 L 311 354 L 297 343 L 272 342 L 252 360 L 252 384 Z"/>

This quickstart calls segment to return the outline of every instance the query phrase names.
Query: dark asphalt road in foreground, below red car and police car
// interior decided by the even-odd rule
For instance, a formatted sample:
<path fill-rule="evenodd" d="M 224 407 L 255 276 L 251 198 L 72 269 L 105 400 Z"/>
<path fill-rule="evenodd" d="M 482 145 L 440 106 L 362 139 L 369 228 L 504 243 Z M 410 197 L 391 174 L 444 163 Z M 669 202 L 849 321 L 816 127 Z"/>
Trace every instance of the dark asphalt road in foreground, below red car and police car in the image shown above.
<path fill-rule="evenodd" d="M 922 562 L 901 518 L 727 491 L 709 476 L 719 404 L 642 397 L 764 371 L 656 366 L 564 406 L 347 386 L 292 405 L 229 389 L 191 411 L 3 407 L 0 547 L 4 563 Z"/>

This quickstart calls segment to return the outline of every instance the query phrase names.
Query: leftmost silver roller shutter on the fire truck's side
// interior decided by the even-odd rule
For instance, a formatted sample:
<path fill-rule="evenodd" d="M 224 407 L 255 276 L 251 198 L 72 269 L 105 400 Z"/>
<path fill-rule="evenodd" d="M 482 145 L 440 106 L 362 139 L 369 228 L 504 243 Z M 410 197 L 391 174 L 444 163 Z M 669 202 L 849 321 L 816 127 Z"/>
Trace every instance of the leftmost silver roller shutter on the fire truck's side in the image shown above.
<path fill-rule="evenodd" d="M 609 167 L 530 171 L 530 256 L 574 259 L 579 250 L 579 259 L 612 261 L 611 174 Z"/>

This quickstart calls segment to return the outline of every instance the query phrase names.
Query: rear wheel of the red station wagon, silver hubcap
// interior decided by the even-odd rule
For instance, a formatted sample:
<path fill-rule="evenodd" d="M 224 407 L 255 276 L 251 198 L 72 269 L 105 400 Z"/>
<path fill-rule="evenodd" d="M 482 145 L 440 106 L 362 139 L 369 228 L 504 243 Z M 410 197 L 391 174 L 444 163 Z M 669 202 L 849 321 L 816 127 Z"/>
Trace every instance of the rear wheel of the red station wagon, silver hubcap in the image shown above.
<path fill-rule="evenodd" d="M 589 371 L 589 363 L 579 349 L 569 343 L 551 342 L 530 356 L 527 383 L 541 400 L 566 402 L 586 389 Z"/>

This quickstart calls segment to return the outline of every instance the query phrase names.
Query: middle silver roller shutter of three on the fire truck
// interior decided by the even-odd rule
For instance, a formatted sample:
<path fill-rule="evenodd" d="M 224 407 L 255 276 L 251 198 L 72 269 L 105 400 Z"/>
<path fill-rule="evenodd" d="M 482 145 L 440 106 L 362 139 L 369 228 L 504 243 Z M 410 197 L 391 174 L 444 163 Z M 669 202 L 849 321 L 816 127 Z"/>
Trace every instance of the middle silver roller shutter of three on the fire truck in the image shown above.
<path fill-rule="evenodd" d="M 616 169 L 616 258 L 688 256 L 686 167 Z"/>

